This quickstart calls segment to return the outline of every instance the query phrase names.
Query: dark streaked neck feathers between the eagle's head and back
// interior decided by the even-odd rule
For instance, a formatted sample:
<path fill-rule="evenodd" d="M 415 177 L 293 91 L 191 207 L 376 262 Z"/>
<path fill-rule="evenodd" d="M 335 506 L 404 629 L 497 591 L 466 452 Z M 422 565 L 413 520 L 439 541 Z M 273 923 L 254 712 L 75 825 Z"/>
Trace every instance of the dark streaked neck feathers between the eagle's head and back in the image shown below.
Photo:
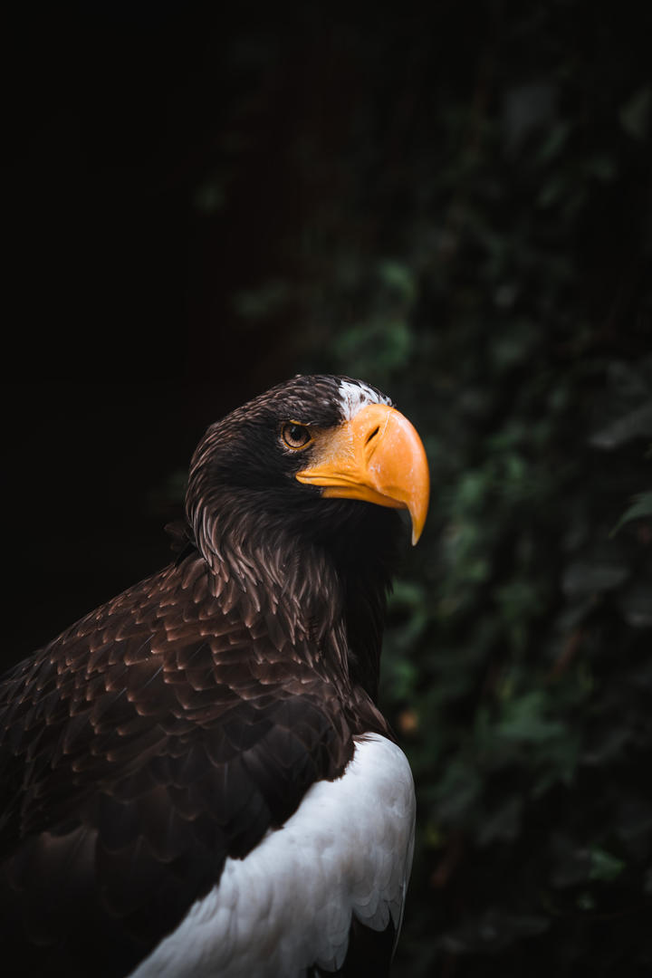
<path fill-rule="evenodd" d="M 313 665 L 330 663 L 347 687 L 362 687 L 376 702 L 401 522 L 395 511 L 368 504 L 317 502 L 328 506 L 327 525 L 324 511 L 288 524 L 286 512 L 278 518 L 261 499 L 235 494 L 189 516 L 224 611 L 237 610 L 277 645 L 302 647 Z"/>

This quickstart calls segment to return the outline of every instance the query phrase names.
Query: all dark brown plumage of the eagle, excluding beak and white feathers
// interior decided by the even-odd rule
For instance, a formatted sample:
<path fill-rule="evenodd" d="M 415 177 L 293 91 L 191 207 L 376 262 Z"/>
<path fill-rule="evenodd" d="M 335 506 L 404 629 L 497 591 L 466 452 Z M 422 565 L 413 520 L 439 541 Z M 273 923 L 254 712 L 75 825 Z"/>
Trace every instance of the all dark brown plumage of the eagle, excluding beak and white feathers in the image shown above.
<path fill-rule="evenodd" d="M 374 701 L 401 522 L 301 484 L 307 454 L 279 433 L 341 424 L 340 382 L 295 378 L 210 427 L 177 559 L 5 677 L 16 974 L 128 974 L 227 857 L 342 775 L 354 736 L 389 736 Z"/>

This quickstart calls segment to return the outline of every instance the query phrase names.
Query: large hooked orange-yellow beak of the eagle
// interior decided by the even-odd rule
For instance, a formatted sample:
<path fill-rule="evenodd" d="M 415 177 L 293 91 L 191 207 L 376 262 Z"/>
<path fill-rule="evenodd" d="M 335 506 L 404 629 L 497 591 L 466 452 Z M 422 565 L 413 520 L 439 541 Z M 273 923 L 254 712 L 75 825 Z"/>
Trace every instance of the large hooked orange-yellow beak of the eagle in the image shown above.
<path fill-rule="evenodd" d="M 408 510 L 413 544 L 421 535 L 430 498 L 428 461 L 415 428 L 395 408 L 362 408 L 318 443 L 313 465 L 296 478 L 322 486 L 323 496 Z"/>

